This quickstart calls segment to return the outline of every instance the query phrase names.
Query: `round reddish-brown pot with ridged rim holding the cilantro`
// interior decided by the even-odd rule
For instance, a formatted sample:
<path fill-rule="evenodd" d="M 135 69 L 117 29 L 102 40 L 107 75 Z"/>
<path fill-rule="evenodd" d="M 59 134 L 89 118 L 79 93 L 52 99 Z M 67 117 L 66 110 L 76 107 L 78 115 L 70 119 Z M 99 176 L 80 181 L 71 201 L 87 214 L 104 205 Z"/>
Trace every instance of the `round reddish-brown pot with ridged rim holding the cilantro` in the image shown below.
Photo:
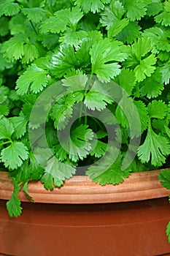
<path fill-rule="evenodd" d="M 0 173 L 0 253 L 6 255 L 152 256 L 169 255 L 166 225 L 169 191 L 159 170 L 133 173 L 123 184 L 101 187 L 75 176 L 61 189 L 31 182 L 34 203 L 20 192 L 23 214 L 9 218 L 5 203 L 12 192 Z"/>

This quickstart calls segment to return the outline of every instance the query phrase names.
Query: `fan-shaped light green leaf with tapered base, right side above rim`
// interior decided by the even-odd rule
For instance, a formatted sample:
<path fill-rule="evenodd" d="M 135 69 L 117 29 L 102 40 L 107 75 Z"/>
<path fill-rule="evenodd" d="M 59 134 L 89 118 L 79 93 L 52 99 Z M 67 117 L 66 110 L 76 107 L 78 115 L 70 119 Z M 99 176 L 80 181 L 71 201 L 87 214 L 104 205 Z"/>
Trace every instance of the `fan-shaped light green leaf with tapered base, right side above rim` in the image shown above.
<path fill-rule="evenodd" d="M 151 161 L 154 166 L 165 163 L 166 156 L 170 154 L 169 140 L 155 134 L 151 125 L 147 129 L 147 137 L 142 146 L 139 146 L 137 155 L 142 163 Z"/>

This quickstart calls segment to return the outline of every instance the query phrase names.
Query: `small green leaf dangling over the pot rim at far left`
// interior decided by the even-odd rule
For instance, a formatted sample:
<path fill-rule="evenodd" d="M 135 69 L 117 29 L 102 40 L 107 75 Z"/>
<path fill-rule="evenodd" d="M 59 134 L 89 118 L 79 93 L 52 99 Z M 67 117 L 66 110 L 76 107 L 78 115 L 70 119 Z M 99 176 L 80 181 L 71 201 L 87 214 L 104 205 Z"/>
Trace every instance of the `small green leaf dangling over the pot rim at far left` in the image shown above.
<path fill-rule="evenodd" d="M 9 217 L 18 217 L 22 213 L 22 207 L 20 206 L 20 199 L 18 198 L 18 194 L 20 192 L 20 184 L 13 178 L 14 190 L 12 195 L 7 202 L 7 211 L 9 213 Z"/>

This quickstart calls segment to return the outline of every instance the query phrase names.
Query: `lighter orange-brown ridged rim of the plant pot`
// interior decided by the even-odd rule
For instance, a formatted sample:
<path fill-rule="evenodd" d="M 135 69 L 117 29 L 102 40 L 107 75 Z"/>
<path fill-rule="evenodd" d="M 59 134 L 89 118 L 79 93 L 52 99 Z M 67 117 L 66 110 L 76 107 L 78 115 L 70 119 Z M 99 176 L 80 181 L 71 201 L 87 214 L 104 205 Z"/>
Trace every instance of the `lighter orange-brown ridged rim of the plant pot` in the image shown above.
<path fill-rule="evenodd" d="M 46 190 L 40 181 L 31 181 L 28 192 L 36 203 L 118 203 L 147 200 L 169 195 L 158 180 L 160 170 L 132 173 L 123 184 L 101 186 L 88 176 L 74 176 L 65 181 L 63 187 Z M 12 194 L 12 179 L 7 172 L 0 172 L 0 198 L 9 200 Z M 21 190 L 20 200 L 30 202 Z"/>

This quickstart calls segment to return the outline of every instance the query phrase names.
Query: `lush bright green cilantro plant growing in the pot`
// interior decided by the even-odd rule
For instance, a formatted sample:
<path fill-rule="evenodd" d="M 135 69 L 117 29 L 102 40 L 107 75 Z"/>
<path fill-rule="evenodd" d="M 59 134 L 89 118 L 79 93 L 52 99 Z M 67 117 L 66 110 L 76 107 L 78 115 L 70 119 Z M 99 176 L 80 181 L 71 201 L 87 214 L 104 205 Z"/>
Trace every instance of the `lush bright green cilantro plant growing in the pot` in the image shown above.
<path fill-rule="evenodd" d="M 52 190 L 83 169 L 119 184 L 169 167 L 169 17 L 169 0 L 1 0 L 9 216 L 20 215 L 18 192 L 28 195 L 32 180 Z"/>

